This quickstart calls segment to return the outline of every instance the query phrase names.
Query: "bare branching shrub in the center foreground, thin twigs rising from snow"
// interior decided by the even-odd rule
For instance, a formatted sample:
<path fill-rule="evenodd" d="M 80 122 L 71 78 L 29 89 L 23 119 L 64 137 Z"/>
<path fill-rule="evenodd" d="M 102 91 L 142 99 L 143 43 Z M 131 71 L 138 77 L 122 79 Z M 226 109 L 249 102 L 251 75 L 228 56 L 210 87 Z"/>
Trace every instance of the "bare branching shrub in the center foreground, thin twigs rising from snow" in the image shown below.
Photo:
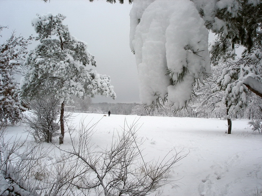
<path fill-rule="evenodd" d="M 79 137 L 71 133 L 73 150 L 60 149 L 75 158 L 78 165 L 72 184 L 85 195 L 93 190 L 105 196 L 143 196 L 173 183 L 168 174 L 187 154 L 173 150 L 160 161 L 145 162 L 136 142 L 136 123 L 128 126 L 125 121 L 123 132 L 118 133 L 117 140 L 112 139 L 109 148 L 94 151 L 90 139 L 96 124 L 87 128 L 82 122 Z"/>

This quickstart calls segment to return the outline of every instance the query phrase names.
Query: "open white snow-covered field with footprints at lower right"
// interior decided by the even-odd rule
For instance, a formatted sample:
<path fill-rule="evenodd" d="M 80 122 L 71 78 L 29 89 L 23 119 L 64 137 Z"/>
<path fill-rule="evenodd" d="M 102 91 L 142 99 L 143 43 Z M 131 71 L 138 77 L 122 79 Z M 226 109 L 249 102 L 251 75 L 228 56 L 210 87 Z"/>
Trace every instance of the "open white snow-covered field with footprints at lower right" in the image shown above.
<path fill-rule="evenodd" d="M 203 118 L 139 117 L 136 115 L 111 115 L 74 113 L 71 126 L 79 122 L 94 128 L 91 143 L 95 148 L 105 148 L 115 133 L 121 132 L 124 121 L 130 125 L 137 121 L 138 139 L 144 149 L 146 161 L 158 160 L 172 149 L 189 153 L 170 171 L 173 185 L 161 189 L 163 196 L 255 196 L 262 191 L 262 134 L 255 133 L 249 120 L 234 120 L 232 134 L 226 134 L 227 121 Z M 6 139 L 17 135 L 26 138 L 25 126 L 9 127 Z M 57 138 L 58 139 L 58 138 Z M 27 138 L 31 142 L 32 138 Z M 58 140 L 54 142 L 58 145 Z M 45 143 L 44 149 L 54 144 Z M 61 148 L 71 148 L 69 133 L 65 133 Z M 50 149 L 50 148 L 49 148 Z M 56 152 L 56 153 L 55 153 Z M 59 156 L 57 148 L 49 157 Z M 155 194 L 151 194 L 155 195 Z"/>

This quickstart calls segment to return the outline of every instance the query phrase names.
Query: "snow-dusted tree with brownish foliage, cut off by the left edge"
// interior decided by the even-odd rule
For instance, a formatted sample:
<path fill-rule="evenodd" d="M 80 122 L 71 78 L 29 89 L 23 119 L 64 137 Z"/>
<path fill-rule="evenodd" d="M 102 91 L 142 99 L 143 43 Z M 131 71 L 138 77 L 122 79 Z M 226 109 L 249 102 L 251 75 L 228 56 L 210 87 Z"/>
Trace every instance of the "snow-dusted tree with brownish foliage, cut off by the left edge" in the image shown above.
<path fill-rule="evenodd" d="M 0 27 L 0 31 L 3 27 Z M 4 123 L 16 123 L 22 118 L 24 107 L 18 101 L 19 86 L 14 80 L 19 66 L 24 62 L 24 55 L 31 38 L 15 36 L 13 32 L 0 45 L 0 119 Z"/>

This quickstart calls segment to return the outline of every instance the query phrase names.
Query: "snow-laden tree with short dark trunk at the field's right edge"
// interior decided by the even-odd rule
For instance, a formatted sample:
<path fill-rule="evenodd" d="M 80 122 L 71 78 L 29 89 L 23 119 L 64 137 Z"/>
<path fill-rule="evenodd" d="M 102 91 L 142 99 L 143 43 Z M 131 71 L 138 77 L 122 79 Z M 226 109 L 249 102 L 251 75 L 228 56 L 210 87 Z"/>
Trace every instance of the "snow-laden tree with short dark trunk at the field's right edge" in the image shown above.
<path fill-rule="evenodd" d="M 262 75 L 257 69 L 261 68 L 262 53 L 259 48 L 257 51 L 260 51 L 256 53 L 257 55 L 254 55 L 254 52 L 244 51 L 242 59 L 224 68 L 222 75 L 217 79 L 217 86 L 212 90 L 224 92 L 223 103 L 227 107 L 228 134 L 231 133 L 231 114 L 237 114 L 248 105 L 249 91 L 244 84 L 246 78 L 252 77 L 255 81 L 262 82 Z"/>

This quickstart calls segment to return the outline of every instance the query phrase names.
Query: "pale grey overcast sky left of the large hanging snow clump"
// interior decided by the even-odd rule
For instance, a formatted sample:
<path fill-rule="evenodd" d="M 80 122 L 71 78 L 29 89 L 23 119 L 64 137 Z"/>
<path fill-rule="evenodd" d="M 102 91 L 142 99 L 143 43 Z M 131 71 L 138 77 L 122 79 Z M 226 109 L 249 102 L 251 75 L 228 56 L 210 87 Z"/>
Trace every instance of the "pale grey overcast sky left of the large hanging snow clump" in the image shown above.
<path fill-rule="evenodd" d="M 97 67 L 93 69 L 111 77 L 116 100 L 97 96 L 93 103 L 140 103 L 135 56 L 129 48 L 131 8 L 128 3 L 112 5 L 105 0 L 0 0 L 0 25 L 8 26 L 1 32 L 0 43 L 13 30 L 24 37 L 36 35 L 31 26 L 36 13 L 61 13 L 67 17 L 64 24 L 71 35 L 85 41 L 95 56 Z"/>

